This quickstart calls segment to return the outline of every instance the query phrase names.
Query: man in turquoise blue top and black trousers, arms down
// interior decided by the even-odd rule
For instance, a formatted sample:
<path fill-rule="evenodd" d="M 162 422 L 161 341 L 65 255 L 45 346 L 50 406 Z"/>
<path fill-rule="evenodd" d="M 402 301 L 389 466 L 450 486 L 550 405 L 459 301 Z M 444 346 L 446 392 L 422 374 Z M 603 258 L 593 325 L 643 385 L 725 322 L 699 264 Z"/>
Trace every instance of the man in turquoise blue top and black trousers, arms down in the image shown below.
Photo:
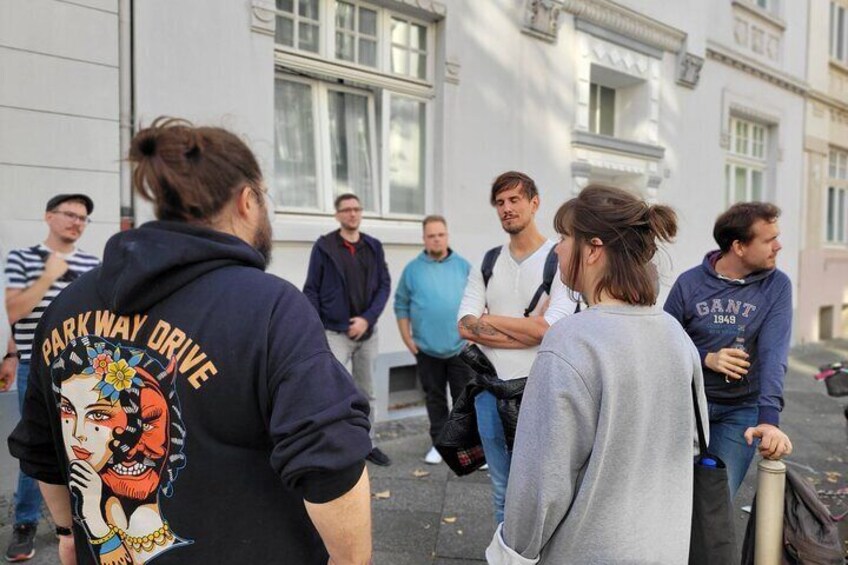
<path fill-rule="evenodd" d="M 456 327 L 471 265 L 448 246 L 448 226 L 442 216 L 427 216 L 423 224 L 424 251 L 403 270 L 395 291 L 395 316 L 403 342 L 418 364 L 435 444 L 448 419 L 447 387 L 456 402 L 472 377 L 459 358 L 464 342 Z M 437 465 L 442 457 L 431 447 L 424 462 Z"/>

